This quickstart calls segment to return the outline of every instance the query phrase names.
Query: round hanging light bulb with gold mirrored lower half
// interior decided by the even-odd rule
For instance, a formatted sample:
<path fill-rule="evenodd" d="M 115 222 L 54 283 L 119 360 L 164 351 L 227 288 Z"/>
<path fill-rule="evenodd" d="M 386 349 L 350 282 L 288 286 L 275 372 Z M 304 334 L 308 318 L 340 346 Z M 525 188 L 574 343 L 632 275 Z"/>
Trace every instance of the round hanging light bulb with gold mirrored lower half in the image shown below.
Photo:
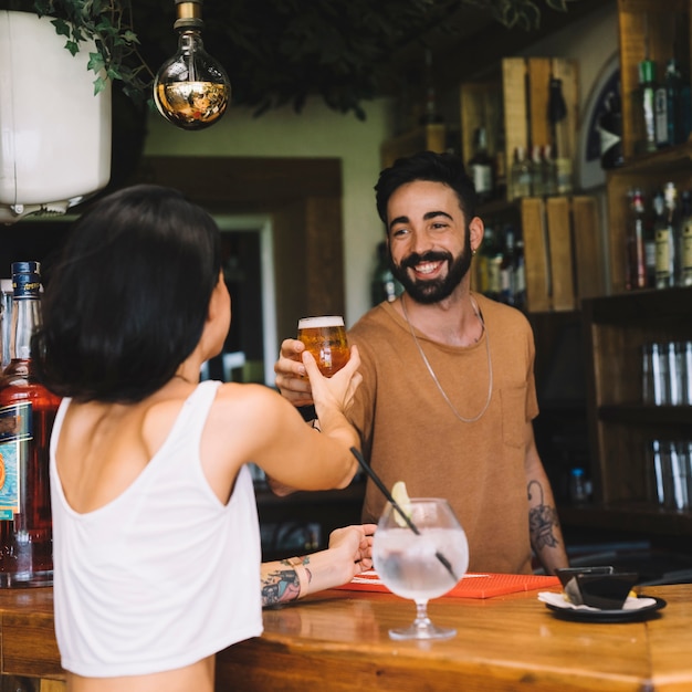
<path fill-rule="evenodd" d="M 159 113 L 182 129 L 202 129 L 216 123 L 230 101 L 231 84 L 223 67 L 205 51 L 200 17 L 202 0 L 176 0 L 178 51 L 154 81 Z"/>

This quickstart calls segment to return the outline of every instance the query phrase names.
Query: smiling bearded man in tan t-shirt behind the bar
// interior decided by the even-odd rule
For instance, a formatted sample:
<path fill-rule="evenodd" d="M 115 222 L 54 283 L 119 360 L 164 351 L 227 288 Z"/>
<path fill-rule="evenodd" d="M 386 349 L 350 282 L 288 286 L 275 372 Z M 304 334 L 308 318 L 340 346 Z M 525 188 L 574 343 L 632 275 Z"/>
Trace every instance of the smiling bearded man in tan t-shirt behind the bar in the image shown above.
<path fill-rule="evenodd" d="M 469 539 L 470 572 L 567 566 L 557 512 L 534 441 L 534 339 L 514 307 L 471 291 L 483 241 L 473 184 L 457 156 L 424 151 L 385 169 L 376 189 L 392 271 L 405 287 L 349 329 L 363 382 L 348 419 L 387 487 L 449 501 Z M 303 345 L 285 339 L 276 385 L 312 401 Z M 363 508 L 385 499 L 368 481 Z"/>

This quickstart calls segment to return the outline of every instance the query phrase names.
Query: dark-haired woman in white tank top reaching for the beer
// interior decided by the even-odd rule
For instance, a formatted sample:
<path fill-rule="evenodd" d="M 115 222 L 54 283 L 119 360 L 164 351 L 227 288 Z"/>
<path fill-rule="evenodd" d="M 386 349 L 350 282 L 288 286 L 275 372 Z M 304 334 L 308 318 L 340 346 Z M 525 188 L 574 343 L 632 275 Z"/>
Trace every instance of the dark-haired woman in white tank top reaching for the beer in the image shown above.
<path fill-rule="evenodd" d="M 33 353 L 64 397 L 51 441 L 54 607 L 74 692 L 211 692 L 213 654 L 262 631 L 247 463 L 304 490 L 356 472 L 344 410 L 357 350 L 331 379 L 304 357 L 318 433 L 268 387 L 199 382 L 230 319 L 216 223 L 167 188 L 97 202 L 53 270 Z M 354 574 L 369 549 L 358 531 L 339 541 Z M 311 577 L 301 569 L 294 596 Z"/>

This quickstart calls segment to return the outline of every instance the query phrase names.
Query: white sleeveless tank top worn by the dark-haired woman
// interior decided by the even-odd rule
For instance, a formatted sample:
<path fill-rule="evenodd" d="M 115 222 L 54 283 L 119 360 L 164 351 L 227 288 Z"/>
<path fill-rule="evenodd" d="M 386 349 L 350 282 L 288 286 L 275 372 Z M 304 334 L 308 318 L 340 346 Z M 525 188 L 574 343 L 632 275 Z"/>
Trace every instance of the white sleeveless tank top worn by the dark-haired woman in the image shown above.
<path fill-rule="evenodd" d="M 109 678 L 189 665 L 262 632 L 260 531 L 249 469 L 223 505 L 202 471 L 219 382 L 200 384 L 134 483 L 94 512 L 67 504 L 51 440 L 55 633 L 65 670 Z"/>

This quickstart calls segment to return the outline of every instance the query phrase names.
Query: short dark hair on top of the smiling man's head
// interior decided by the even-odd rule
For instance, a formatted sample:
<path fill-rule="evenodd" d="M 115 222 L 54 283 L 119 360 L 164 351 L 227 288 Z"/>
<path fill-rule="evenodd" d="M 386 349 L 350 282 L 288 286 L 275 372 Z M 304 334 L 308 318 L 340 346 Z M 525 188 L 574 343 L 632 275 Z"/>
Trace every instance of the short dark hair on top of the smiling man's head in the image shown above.
<path fill-rule="evenodd" d="M 476 196 L 473 181 L 466 175 L 463 161 L 454 154 L 421 151 L 397 159 L 392 166 L 379 174 L 375 186 L 377 213 L 387 224 L 387 203 L 394 192 L 407 182 L 429 180 L 448 185 L 459 198 L 459 206 L 466 223 L 475 216 Z"/>

